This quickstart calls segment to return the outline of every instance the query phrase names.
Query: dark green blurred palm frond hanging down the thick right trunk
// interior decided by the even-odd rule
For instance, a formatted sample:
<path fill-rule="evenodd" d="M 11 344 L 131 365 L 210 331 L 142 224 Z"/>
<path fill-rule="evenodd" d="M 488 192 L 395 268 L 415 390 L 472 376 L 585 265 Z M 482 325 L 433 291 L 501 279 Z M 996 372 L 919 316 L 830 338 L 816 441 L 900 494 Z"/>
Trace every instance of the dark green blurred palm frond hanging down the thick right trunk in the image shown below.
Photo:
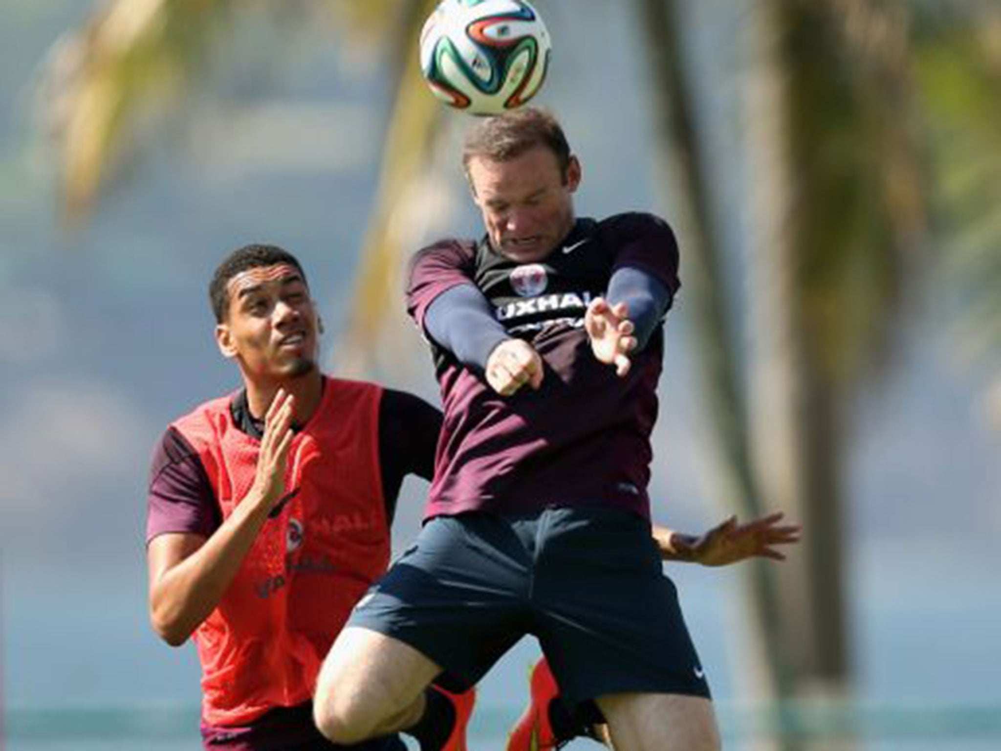
<path fill-rule="evenodd" d="M 788 28 L 807 346 L 837 391 L 892 360 L 929 230 L 908 4 L 798 5 Z"/>

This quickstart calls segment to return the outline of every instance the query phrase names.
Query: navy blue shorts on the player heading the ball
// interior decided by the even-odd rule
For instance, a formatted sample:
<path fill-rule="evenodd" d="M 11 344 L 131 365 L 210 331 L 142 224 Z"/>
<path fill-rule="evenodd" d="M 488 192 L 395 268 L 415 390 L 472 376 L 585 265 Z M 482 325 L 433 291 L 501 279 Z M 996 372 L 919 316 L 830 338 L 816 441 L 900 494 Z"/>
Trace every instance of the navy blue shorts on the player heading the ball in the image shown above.
<path fill-rule="evenodd" d="M 414 647 L 453 690 L 534 634 L 572 709 L 621 692 L 709 697 L 650 523 L 618 509 L 435 517 L 348 625 Z"/>

